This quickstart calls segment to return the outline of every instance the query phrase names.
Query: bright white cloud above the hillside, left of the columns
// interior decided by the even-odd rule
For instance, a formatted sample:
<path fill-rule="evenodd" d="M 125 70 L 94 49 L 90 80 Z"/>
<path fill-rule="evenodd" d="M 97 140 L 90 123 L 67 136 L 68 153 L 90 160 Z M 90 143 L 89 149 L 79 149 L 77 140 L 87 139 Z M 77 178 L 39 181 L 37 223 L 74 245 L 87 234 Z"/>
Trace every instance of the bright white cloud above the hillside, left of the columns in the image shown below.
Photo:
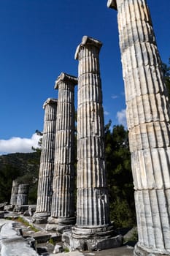
<path fill-rule="evenodd" d="M 9 140 L 0 140 L 0 154 L 32 152 L 32 146 L 39 147 L 39 138 L 39 135 L 34 133 L 31 138 L 12 137 Z"/>

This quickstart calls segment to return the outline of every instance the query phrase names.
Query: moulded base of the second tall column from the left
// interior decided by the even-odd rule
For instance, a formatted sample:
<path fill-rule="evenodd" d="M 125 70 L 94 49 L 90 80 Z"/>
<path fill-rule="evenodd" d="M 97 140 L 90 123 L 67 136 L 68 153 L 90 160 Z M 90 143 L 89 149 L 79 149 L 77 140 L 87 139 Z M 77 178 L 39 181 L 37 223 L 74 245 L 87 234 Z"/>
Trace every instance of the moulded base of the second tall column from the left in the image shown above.
<path fill-rule="evenodd" d="M 63 233 L 64 230 L 70 230 L 72 228 L 72 225 L 75 224 L 75 222 L 75 217 L 49 217 L 48 224 L 46 225 L 45 229 L 47 231 L 58 231 L 59 233 Z"/>

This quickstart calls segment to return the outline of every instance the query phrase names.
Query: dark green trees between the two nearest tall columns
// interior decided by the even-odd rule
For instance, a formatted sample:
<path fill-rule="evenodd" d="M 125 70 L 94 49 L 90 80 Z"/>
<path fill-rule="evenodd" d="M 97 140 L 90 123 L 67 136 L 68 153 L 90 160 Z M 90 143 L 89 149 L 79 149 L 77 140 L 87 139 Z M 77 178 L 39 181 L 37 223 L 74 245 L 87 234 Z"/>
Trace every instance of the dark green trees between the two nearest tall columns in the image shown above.
<path fill-rule="evenodd" d="M 115 227 L 129 227 L 136 224 L 136 215 L 128 131 L 123 125 L 114 126 L 111 131 L 111 124 L 109 121 L 105 126 L 110 216 Z"/>

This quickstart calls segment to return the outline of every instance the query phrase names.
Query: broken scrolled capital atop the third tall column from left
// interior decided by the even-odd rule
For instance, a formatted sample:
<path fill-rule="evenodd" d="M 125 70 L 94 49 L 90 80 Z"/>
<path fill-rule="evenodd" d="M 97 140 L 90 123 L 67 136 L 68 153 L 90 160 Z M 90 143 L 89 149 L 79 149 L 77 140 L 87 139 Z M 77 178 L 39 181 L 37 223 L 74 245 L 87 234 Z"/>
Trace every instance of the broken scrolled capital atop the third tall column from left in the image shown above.
<path fill-rule="evenodd" d="M 102 46 L 102 42 L 98 41 L 97 39 L 93 39 L 92 37 L 88 37 L 88 36 L 82 37 L 82 42 L 80 43 L 80 45 L 77 46 L 74 59 L 78 59 L 79 52 L 81 48 L 84 47 L 85 45 L 94 45 L 100 50 Z"/>

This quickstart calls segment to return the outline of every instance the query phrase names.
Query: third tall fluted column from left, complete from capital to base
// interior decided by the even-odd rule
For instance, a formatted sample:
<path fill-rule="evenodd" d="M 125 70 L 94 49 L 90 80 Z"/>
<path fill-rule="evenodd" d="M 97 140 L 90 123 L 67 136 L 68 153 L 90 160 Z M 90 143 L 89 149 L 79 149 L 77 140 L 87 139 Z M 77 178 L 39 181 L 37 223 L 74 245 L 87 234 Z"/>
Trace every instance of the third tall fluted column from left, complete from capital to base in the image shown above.
<path fill-rule="evenodd" d="M 99 52 L 101 42 L 82 37 L 75 59 L 79 60 L 77 107 L 77 223 L 71 245 L 89 250 L 119 246 L 112 237 L 104 162 L 104 111 L 102 107 Z M 106 239 L 107 238 L 107 239 Z"/>

